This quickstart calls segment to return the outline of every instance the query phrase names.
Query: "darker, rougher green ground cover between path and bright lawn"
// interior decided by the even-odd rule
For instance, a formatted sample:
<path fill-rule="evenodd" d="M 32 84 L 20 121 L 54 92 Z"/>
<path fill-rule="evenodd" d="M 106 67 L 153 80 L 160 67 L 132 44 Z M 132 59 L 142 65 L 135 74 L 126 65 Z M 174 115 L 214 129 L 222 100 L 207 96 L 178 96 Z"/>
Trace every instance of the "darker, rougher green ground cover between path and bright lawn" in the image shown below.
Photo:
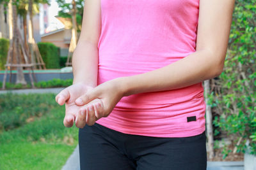
<path fill-rule="evenodd" d="M 20 127 L 57 106 L 54 94 L 0 95 L 0 131 Z"/>

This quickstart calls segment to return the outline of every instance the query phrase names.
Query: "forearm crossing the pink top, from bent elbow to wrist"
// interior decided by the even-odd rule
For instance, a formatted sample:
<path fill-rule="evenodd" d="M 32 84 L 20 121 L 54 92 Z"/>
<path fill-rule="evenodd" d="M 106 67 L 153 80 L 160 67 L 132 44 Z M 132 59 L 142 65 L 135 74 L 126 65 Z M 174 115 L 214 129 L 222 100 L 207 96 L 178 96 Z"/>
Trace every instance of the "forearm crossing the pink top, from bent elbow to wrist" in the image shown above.
<path fill-rule="evenodd" d="M 124 96 L 179 89 L 214 78 L 223 66 L 211 55 L 211 52 L 201 50 L 160 69 L 122 77 L 119 80 Z"/>

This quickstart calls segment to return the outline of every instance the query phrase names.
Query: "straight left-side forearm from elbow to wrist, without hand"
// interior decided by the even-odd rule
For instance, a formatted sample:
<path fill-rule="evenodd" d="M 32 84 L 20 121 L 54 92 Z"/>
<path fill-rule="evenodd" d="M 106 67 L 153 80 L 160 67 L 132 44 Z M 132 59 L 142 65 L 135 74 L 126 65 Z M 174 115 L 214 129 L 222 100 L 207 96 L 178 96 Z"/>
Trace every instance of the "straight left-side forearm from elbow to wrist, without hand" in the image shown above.
<path fill-rule="evenodd" d="M 96 87 L 98 76 L 98 48 L 90 41 L 79 41 L 72 57 L 74 83 L 83 82 Z"/>

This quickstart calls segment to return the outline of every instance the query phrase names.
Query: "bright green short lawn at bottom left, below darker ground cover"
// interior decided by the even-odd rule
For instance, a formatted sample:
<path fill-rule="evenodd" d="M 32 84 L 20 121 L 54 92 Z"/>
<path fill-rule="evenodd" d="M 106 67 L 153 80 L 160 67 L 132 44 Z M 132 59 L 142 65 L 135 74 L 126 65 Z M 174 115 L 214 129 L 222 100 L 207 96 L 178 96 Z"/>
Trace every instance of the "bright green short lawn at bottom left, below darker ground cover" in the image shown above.
<path fill-rule="evenodd" d="M 78 129 L 64 127 L 64 115 L 64 106 L 54 106 L 32 122 L 1 132 L 0 169 L 61 169 L 78 143 Z"/>

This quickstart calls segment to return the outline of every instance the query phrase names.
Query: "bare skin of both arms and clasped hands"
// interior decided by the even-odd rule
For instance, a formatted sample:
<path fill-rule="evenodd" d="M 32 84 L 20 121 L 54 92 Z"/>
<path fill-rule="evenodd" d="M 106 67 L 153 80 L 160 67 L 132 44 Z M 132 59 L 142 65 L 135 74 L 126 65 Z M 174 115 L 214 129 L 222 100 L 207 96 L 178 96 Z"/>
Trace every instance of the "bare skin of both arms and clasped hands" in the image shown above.
<path fill-rule="evenodd" d="M 66 127 L 73 124 L 72 119 L 70 118 L 70 121 L 68 119 L 70 115 L 74 118 L 92 105 L 95 106 L 94 110 L 81 115 L 77 120 L 77 127 L 83 128 L 85 124 L 93 125 L 99 118 L 108 117 L 124 96 L 187 87 L 219 76 L 223 71 L 234 0 L 200 0 L 195 53 L 154 71 L 115 78 L 98 86 L 97 43 L 100 36 L 100 0 L 86 0 L 84 8 L 86 12 L 83 24 L 85 22 L 86 24 L 82 26 L 81 37 L 73 56 L 74 84 L 81 83 L 92 89 L 70 92 L 70 96 L 74 97 L 63 97 L 61 103 L 58 101 L 60 96 L 68 95 L 65 95 L 65 92 L 58 94 L 56 101 L 59 104 L 66 101 L 66 120 L 64 119 Z"/>

